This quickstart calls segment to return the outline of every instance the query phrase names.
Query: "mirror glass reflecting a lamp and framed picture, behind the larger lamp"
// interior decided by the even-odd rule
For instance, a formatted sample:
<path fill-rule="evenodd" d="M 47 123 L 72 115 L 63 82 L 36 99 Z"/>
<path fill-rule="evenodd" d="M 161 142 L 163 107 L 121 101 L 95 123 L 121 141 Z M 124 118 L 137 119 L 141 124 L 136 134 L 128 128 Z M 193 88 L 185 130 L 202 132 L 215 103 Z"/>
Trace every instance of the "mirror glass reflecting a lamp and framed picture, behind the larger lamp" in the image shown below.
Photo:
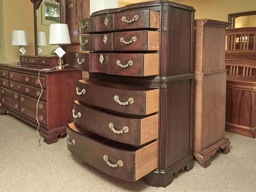
<path fill-rule="evenodd" d="M 51 24 L 60 23 L 59 0 L 44 0 L 36 14 L 38 55 L 56 55 L 58 45 L 49 45 L 49 33 Z"/>

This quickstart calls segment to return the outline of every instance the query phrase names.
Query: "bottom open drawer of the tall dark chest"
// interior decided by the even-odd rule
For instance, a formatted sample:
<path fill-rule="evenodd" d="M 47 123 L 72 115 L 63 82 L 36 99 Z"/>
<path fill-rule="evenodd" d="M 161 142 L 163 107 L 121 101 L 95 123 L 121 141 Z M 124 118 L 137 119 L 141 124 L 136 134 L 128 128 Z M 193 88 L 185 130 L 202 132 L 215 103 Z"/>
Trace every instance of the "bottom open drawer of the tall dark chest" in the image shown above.
<path fill-rule="evenodd" d="M 67 143 L 73 155 L 118 179 L 136 181 L 157 168 L 158 141 L 135 147 L 108 140 L 72 123 L 68 124 Z"/>

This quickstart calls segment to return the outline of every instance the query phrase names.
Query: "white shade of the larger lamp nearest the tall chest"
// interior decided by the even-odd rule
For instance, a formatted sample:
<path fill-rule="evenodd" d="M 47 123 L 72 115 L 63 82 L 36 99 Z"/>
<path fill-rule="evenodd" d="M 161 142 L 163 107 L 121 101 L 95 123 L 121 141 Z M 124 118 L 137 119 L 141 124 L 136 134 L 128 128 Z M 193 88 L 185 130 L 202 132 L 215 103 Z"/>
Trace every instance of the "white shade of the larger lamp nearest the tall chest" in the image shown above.
<path fill-rule="evenodd" d="M 71 44 L 67 24 L 56 23 L 56 24 L 50 25 L 49 44 L 50 45 Z"/>

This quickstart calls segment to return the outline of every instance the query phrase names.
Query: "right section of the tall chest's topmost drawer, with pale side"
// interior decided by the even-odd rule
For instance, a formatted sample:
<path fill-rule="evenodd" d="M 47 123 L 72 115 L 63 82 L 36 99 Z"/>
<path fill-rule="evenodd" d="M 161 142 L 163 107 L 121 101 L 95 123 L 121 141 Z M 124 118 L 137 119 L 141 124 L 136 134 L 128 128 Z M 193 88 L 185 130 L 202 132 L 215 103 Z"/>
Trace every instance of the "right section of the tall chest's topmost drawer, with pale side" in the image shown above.
<path fill-rule="evenodd" d="M 114 14 L 114 21 L 115 30 L 159 28 L 159 12 L 149 10 L 126 11 Z"/>

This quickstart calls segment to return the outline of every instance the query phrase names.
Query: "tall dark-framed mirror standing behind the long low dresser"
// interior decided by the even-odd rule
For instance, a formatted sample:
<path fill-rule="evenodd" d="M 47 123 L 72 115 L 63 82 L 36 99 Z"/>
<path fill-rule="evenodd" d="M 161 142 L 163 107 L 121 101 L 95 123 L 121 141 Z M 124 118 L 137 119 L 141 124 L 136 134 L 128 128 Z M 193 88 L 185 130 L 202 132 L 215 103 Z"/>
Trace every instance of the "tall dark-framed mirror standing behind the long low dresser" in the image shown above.
<path fill-rule="evenodd" d="M 50 25 L 62 23 L 63 0 L 30 0 L 34 4 L 35 55 L 55 56 L 58 45 L 49 45 Z"/>

